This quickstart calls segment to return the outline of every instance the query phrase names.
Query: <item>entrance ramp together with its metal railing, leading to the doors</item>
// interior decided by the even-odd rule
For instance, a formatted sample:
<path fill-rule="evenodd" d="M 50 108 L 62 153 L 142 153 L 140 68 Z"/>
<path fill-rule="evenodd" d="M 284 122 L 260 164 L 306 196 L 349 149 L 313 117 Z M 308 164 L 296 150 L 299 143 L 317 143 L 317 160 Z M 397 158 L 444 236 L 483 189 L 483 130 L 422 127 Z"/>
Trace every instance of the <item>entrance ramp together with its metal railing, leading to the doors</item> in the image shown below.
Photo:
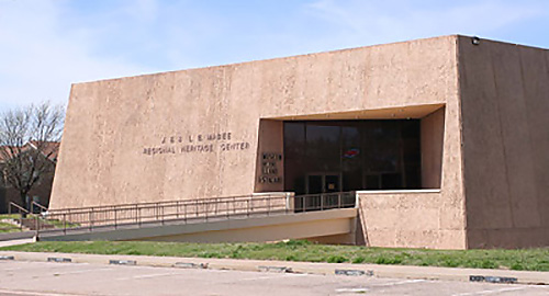
<path fill-rule="evenodd" d="M 45 217 L 63 227 L 40 230 L 38 238 L 225 242 L 328 237 L 355 243 L 355 193 L 266 193 L 52 210 Z"/>

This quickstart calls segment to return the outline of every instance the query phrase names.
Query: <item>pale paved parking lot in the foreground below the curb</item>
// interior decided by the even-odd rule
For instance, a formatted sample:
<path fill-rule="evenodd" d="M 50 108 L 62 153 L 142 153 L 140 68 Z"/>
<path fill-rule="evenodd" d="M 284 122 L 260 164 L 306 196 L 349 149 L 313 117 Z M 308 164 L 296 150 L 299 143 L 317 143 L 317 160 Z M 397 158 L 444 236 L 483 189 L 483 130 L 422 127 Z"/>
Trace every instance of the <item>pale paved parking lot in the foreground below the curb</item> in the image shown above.
<path fill-rule="evenodd" d="M 0 262 L 0 295 L 549 295 L 549 286 L 88 263 Z"/>

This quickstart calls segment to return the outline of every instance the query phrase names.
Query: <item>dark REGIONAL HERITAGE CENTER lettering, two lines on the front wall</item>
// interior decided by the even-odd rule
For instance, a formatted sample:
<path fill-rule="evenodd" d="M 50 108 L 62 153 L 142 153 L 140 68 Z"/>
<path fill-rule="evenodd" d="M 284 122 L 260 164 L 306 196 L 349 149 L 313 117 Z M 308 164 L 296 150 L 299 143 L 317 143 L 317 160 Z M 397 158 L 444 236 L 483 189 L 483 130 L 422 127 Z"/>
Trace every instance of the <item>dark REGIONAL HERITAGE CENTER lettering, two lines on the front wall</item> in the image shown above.
<path fill-rule="evenodd" d="M 144 147 L 143 153 L 178 155 L 192 152 L 242 151 L 249 149 L 247 141 L 234 141 L 231 132 L 212 134 L 172 135 L 161 138 L 158 146 Z"/>

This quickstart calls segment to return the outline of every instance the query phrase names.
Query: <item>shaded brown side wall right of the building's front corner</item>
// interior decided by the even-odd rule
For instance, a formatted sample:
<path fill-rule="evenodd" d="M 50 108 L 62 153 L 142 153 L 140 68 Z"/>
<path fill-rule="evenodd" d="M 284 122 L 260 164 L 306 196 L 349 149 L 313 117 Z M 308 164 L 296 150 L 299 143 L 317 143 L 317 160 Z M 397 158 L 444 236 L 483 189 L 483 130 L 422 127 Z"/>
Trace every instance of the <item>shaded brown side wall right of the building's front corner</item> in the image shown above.
<path fill-rule="evenodd" d="M 549 52 L 459 38 L 469 248 L 549 244 Z"/>

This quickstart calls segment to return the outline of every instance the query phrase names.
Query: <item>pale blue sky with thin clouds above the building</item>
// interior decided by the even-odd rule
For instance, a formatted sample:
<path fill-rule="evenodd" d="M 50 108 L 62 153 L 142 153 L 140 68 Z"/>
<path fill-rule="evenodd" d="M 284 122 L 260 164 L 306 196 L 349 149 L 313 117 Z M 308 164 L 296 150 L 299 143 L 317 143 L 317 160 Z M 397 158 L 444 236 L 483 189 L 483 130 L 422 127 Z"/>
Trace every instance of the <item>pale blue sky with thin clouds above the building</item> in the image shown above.
<path fill-rule="evenodd" d="M 0 112 L 71 83 L 439 35 L 549 48 L 548 0 L 0 0 Z"/>

